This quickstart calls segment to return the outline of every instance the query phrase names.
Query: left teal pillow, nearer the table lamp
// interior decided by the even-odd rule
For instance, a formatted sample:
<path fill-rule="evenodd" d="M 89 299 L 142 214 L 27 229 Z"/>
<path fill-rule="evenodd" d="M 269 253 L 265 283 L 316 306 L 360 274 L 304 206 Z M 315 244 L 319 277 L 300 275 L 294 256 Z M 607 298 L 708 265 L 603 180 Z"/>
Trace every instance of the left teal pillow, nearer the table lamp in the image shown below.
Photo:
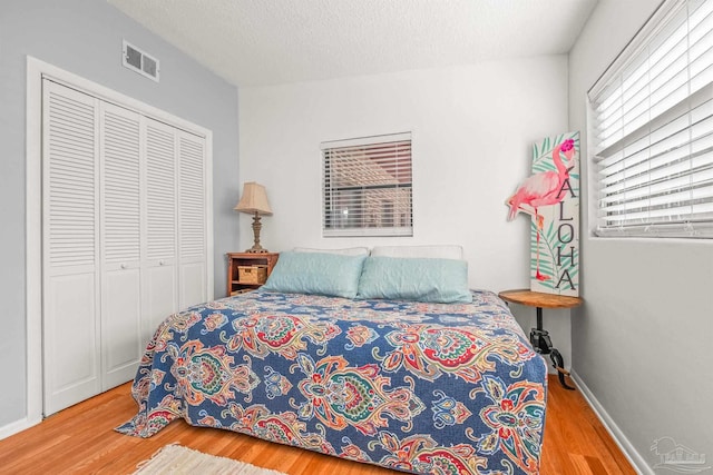
<path fill-rule="evenodd" d="M 365 256 L 325 253 L 280 253 L 261 290 L 356 297 Z"/>

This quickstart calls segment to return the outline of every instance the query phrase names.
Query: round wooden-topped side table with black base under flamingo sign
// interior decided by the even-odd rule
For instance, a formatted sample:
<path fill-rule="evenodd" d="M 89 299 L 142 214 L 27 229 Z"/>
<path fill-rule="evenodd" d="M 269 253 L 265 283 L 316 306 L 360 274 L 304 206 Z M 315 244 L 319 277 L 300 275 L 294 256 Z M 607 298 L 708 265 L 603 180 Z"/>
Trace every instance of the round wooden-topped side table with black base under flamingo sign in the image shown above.
<path fill-rule="evenodd" d="M 502 300 L 512 304 L 527 305 L 537 308 L 537 328 L 530 331 L 530 344 L 535 350 L 541 355 L 549 355 L 557 373 L 559 374 L 559 383 L 567 389 L 574 389 L 565 383 L 565 375 L 569 373 L 565 369 L 565 362 L 557 348 L 553 347 L 549 339 L 549 333 L 543 328 L 543 307 L 545 308 L 574 308 L 582 305 L 579 297 L 569 297 L 565 295 L 543 294 L 539 291 L 522 290 L 505 290 L 498 294 Z"/>

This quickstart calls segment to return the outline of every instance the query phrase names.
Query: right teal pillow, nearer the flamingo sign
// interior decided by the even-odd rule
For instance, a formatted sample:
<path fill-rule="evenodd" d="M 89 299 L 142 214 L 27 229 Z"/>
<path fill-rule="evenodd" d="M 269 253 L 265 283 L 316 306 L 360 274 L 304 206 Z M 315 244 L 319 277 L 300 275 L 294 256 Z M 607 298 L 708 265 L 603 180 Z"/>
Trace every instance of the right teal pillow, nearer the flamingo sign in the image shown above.
<path fill-rule="evenodd" d="M 470 303 L 468 263 L 456 259 L 368 257 L 358 298 Z"/>

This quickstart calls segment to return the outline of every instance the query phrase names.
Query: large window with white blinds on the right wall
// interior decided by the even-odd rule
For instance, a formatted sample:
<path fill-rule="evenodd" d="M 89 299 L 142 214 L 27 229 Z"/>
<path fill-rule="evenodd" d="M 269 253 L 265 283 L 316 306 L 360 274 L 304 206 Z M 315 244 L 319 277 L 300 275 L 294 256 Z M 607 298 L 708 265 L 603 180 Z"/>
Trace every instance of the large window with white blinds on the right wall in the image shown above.
<path fill-rule="evenodd" d="M 595 234 L 713 237 L 713 1 L 664 2 L 589 106 Z"/>

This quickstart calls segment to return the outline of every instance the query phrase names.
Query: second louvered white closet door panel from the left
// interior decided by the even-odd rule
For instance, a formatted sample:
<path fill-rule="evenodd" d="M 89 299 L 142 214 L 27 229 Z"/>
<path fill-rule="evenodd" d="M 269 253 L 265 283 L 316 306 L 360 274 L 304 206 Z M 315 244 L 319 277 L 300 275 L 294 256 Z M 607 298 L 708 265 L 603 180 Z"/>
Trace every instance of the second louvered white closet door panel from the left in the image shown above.
<path fill-rule="evenodd" d="M 141 338 L 140 116 L 102 102 L 101 343 L 102 389 L 133 379 Z"/>

